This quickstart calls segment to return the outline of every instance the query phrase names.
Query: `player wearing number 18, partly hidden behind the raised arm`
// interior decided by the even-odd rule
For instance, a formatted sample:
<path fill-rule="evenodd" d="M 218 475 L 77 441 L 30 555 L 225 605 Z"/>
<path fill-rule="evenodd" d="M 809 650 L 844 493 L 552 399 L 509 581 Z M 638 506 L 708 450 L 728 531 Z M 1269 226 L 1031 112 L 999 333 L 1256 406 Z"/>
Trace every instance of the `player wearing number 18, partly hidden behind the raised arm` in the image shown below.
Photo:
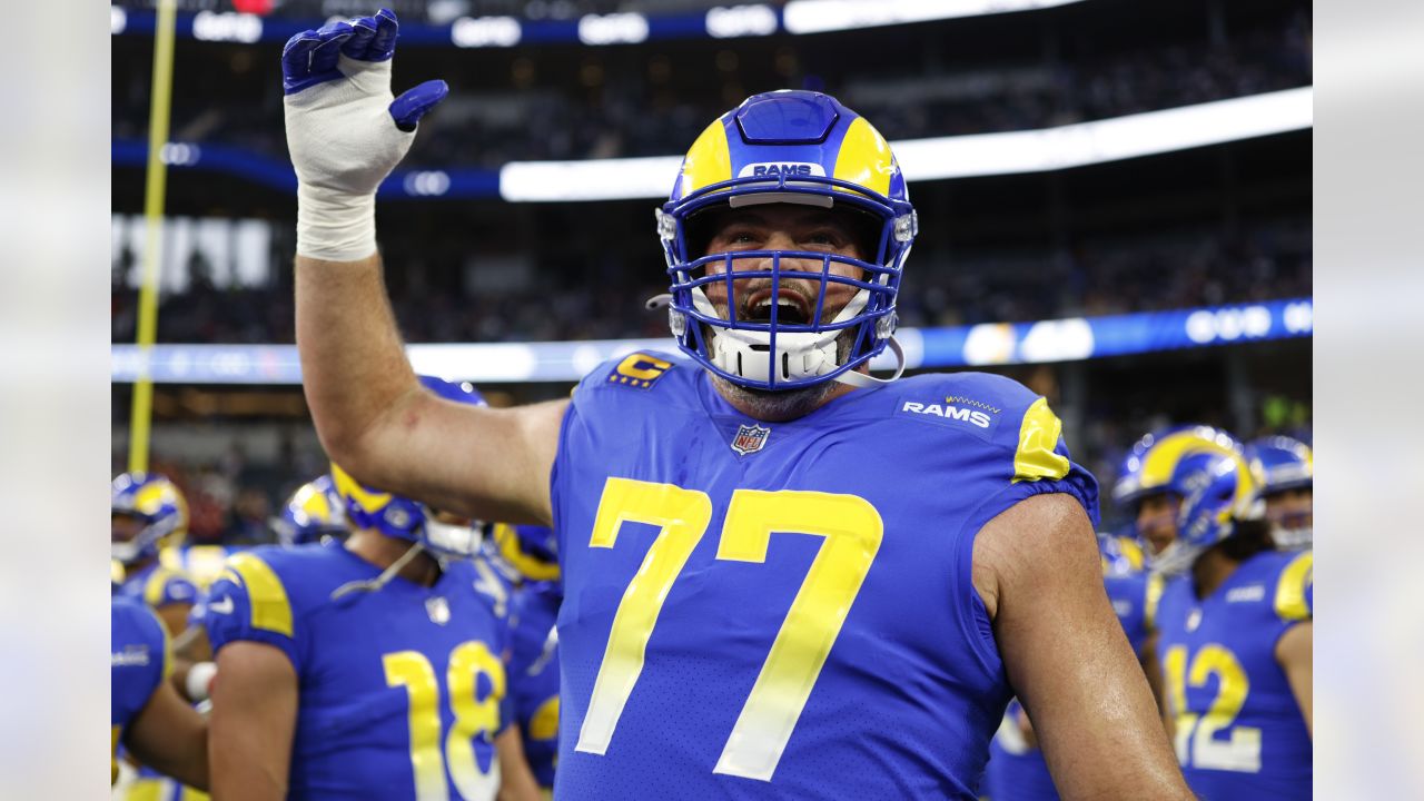
<path fill-rule="evenodd" d="M 236 554 L 209 593 L 215 794 L 490 800 L 503 774 L 510 795 L 535 797 L 496 753 L 520 748 L 506 601 L 470 563 L 480 526 L 332 475 L 355 527 L 345 543 Z"/>

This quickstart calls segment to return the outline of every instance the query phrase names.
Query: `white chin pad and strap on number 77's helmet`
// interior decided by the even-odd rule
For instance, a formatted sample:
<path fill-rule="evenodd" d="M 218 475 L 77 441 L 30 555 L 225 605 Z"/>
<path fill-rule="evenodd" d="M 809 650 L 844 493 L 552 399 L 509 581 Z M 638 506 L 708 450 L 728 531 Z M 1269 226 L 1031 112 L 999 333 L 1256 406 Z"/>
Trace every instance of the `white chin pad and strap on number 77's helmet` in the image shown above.
<path fill-rule="evenodd" d="M 862 289 L 840 309 L 832 321 L 844 322 L 866 308 L 870 292 Z M 702 288 L 692 291 L 692 305 L 706 316 L 721 318 L 712 301 L 708 299 Z M 739 378 L 758 382 L 772 379 L 770 369 L 776 365 L 776 381 L 800 381 L 826 375 L 840 366 L 836 358 L 836 338 L 844 328 L 812 332 L 778 332 L 776 353 L 770 353 L 772 335 L 766 331 L 739 331 L 732 328 L 713 326 L 711 342 L 708 342 L 708 361 L 718 369 L 726 371 Z"/>

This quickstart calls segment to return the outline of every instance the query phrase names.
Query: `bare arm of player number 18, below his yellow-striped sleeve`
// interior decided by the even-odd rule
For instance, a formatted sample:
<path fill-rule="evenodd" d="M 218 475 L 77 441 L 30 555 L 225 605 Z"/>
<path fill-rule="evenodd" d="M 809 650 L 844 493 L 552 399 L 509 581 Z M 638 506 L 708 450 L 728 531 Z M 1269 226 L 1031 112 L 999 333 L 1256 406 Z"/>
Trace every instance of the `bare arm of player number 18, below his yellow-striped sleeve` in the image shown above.
<path fill-rule="evenodd" d="M 296 731 L 296 670 L 278 648 L 229 643 L 218 653 L 208 764 L 214 801 L 286 798 Z"/>

